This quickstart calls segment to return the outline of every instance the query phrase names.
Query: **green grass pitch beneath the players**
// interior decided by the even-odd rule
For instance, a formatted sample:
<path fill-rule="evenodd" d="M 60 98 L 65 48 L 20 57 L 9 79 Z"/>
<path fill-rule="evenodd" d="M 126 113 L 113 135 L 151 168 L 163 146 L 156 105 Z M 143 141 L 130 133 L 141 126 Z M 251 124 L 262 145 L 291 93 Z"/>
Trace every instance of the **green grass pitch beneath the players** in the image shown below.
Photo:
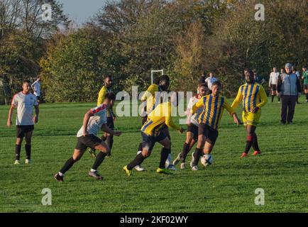
<path fill-rule="evenodd" d="M 94 159 L 85 153 L 65 182 L 56 182 L 53 174 L 72 155 L 83 115 L 94 104 L 42 104 L 30 166 L 13 165 L 16 129 L 5 127 L 9 107 L 0 106 L 0 212 L 308 212 L 308 104 L 297 105 L 294 125 L 281 126 L 275 101 L 263 108 L 257 131 L 260 157 L 240 160 L 246 133 L 225 113 L 214 165 L 158 175 L 156 145 L 143 164 L 147 171 L 128 178 L 122 167 L 136 155 L 141 119 L 126 117 L 116 122 L 123 135 L 115 138 L 113 156 L 99 167 L 104 180 L 87 177 Z M 175 157 L 185 135 L 171 131 L 171 137 Z M 41 204 L 44 188 L 52 190 L 51 206 Z M 264 206 L 254 203 L 257 188 L 265 190 Z"/>

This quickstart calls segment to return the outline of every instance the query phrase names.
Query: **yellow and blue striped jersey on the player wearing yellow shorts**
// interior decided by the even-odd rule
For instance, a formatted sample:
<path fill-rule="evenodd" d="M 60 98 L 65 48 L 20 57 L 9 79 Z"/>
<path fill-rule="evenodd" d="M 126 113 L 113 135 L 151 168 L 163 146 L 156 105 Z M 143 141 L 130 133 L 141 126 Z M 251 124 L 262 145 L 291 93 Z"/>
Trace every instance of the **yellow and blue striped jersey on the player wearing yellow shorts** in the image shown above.
<path fill-rule="evenodd" d="M 238 89 L 238 95 L 234 99 L 231 107 L 236 109 L 238 104 L 243 101 L 243 111 L 251 113 L 255 107 L 260 109 L 268 103 L 268 96 L 266 96 L 265 90 L 262 85 L 258 83 L 243 84 Z M 260 109 L 258 113 L 260 113 Z"/>

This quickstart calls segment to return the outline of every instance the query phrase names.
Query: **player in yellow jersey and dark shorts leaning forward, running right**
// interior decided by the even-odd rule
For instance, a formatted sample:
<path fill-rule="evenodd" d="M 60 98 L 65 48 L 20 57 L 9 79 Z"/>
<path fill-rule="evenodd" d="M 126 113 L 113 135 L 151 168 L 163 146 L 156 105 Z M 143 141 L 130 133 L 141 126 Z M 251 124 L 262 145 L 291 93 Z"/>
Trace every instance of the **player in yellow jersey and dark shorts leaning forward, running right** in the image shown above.
<path fill-rule="evenodd" d="M 139 153 L 135 159 L 128 165 L 123 167 L 126 175 L 131 176 L 133 167 L 136 165 L 141 165 L 145 158 L 150 156 L 153 147 L 156 142 L 163 145 L 160 153 L 160 165 L 156 172 L 170 174 L 169 170 L 165 167 L 165 162 L 171 153 L 171 142 L 170 138 L 165 135 L 163 127 L 173 128 L 180 133 L 184 132 L 184 129 L 177 126 L 172 121 L 172 111 L 175 111 L 175 107 L 178 104 L 178 96 L 175 92 L 172 94 L 170 101 L 165 101 L 162 104 L 158 104 L 155 109 L 148 115 L 148 120 L 144 123 L 141 128 L 142 135 L 142 152 Z"/>

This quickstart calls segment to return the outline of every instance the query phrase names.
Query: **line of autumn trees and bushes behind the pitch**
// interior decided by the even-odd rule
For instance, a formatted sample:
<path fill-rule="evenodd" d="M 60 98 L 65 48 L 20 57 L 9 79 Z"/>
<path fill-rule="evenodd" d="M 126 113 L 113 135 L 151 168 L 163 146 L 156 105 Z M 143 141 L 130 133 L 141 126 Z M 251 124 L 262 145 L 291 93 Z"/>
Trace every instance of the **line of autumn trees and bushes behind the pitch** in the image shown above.
<path fill-rule="evenodd" d="M 6 99 L 23 79 L 40 74 L 45 101 L 94 101 L 104 75 L 114 77 L 116 92 L 132 85 L 142 91 L 150 70 L 159 69 L 181 91 L 194 91 L 202 72 L 212 71 L 233 96 L 245 67 L 268 77 L 285 62 L 307 64 L 306 0 L 120 0 L 78 28 L 57 1 L 48 1 L 53 21 L 39 16 L 46 1 L 0 2 L 0 96 Z M 255 20 L 255 4 L 265 6 L 264 21 Z"/>

